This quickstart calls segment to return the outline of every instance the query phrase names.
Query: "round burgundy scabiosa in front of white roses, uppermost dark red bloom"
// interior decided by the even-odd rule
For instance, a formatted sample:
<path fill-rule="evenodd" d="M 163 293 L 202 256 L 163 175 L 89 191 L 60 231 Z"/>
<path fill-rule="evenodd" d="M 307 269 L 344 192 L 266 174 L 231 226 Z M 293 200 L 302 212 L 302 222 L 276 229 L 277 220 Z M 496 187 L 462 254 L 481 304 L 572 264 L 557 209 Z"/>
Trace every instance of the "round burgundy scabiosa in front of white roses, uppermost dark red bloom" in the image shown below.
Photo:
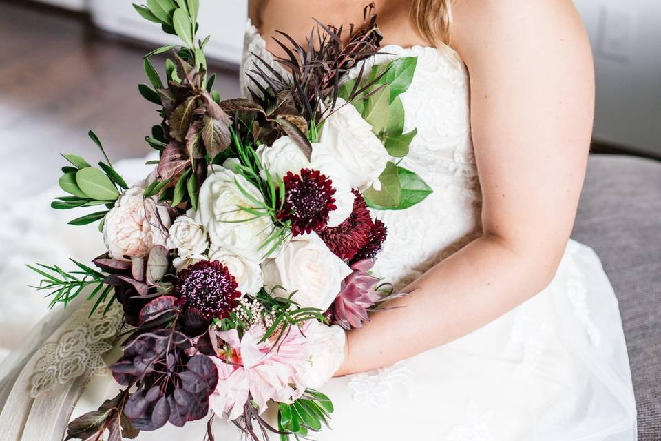
<path fill-rule="evenodd" d="M 328 213 L 335 209 L 335 189 L 330 179 L 319 170 L 301 169 L 300 174 L 288 172 L 284 178 L 285 196 L 280 220 L 291 220 L 291 234 L 319 231 L 328 223 Z"/>

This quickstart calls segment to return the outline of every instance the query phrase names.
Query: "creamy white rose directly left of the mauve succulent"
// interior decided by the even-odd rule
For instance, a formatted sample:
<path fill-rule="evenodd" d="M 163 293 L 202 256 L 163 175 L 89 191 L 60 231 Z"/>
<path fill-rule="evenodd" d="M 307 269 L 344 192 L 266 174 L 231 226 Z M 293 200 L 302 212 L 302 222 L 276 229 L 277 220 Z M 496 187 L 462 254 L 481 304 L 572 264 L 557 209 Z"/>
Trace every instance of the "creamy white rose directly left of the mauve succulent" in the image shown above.
<path fill-rule="evenodd" d="M 316 233 L 291 239 L 279 256 L 262 264 L 264 285 L 280 285 L 301 307 L 326 311 L 339 293 L 342 280 L 353 271 L 335 256 Z M 277 294 L 275 291 L 274 294 Z"/>

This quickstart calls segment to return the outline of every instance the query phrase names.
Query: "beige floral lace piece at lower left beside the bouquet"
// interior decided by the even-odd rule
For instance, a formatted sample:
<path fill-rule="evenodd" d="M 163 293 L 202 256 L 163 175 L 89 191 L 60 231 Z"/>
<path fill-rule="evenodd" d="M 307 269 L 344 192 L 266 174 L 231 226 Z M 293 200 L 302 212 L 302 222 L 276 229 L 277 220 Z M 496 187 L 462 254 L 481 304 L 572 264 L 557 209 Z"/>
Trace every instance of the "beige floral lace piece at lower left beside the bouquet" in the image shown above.
<path fill-rule="evenodd" d="M 39 349 L 41 358 L 30 377 L 32 398 L 58 384 L 83 376 L 90 380 L 107 373 L 102 356 L 113 347 L 122 322 L 122 308 L 115 304 L 105 315 L 88 314 L 87 309 L 76 311 L 57 341 L 47 342 Z"/>

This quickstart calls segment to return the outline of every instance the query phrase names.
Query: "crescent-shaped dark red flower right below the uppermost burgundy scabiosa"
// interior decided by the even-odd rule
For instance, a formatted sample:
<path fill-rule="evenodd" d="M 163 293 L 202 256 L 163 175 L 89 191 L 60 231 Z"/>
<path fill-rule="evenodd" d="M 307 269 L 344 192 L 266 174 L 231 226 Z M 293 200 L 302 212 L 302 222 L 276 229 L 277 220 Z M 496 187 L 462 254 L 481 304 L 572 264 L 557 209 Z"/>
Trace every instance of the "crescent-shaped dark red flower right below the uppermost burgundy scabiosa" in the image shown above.
<path fill-rule="evenodd" d="M 337 227 L 319 232 L 319 237 L 328 245 L 330 251 L 344 260 L 353 259 L 358 250 L 370 241 L 370 232 L 374 225 L 363 196 L 355 189 L 353 194 L 355 199 L 350 216 Z"/>

